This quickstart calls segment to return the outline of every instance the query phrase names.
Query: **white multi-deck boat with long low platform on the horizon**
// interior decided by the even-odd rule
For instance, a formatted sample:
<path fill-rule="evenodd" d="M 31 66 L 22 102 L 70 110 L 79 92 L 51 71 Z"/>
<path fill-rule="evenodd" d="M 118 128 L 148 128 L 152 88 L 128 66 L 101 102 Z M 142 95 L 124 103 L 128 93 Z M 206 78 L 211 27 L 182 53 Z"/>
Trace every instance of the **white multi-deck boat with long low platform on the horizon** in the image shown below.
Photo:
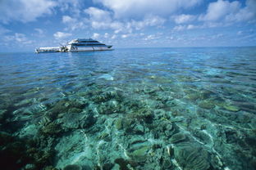
<path fill-rule="evenodd" d="M 111 51 L 112 45 L 106 45 L 92 38 L 77 38 L 67 43 L 67 46 L 62 47 L 39 47 L 35 52 L 79 52 L 79 51 Z"/>

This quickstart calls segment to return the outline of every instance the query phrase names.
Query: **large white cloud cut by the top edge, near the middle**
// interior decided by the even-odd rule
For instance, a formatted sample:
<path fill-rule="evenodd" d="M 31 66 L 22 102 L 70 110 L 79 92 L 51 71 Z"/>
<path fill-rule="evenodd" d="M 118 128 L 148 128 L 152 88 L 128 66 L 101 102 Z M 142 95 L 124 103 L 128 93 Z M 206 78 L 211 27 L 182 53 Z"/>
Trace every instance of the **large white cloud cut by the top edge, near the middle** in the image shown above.
<path fill-rule="evenodd" d="M 181 8 L 190 8 L 198 5 L 202 0 L 94 0 L 102 3 L 114 11 L 116 18 L 138 17 L 146 14 L 153 16 L 167 16 Z"/>

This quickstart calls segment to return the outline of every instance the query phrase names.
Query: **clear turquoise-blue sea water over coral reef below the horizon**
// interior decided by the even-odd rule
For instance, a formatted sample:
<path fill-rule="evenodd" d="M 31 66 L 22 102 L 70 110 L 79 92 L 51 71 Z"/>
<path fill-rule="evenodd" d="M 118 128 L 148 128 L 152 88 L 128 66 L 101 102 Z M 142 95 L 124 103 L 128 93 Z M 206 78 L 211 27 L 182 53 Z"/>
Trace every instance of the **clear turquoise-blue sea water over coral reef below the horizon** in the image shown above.
<path fill-rule="evenodd" d="M 2 169 L 256 167 L 256 47 L 0 60 Z"/>

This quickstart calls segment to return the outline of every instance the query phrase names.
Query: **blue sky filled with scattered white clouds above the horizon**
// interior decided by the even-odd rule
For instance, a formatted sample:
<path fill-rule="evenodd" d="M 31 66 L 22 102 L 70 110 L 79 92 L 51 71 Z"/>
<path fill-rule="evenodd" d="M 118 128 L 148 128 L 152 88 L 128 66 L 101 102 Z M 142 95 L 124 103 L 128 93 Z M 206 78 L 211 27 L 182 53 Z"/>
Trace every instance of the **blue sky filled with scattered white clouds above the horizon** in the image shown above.
<path fill-rule="evenodd" d="M 256 0 L 0 0 L 0 51 L 75 38 L 119 47 L 256 45 Z"/>

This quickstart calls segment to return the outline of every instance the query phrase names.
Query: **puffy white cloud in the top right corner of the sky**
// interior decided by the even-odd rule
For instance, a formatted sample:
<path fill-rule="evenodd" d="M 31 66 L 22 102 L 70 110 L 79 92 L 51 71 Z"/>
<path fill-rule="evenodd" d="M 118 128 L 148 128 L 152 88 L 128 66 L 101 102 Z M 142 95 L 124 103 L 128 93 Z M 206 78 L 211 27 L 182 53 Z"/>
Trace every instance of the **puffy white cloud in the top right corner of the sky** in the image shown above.
<path fill-rule="evenodd" d="M 242 7 L 239 1 L 217 0 L 217 2 L 211 2 L 206 14 L 199 16 L 199 20 L 236 22 L 254 19 L 256 16 L 256 1 L 247 0 L 245 4 L 246 6 Z"/>

